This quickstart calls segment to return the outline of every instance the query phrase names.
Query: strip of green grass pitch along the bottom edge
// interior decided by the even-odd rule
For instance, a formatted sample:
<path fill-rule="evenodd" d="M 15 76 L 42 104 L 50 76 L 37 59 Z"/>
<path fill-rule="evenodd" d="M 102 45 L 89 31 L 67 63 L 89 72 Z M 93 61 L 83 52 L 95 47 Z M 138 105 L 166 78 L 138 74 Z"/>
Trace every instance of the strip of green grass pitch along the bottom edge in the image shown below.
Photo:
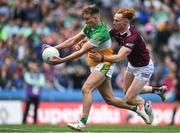
<path fill-rule="evenodd" d="M 58 133 L 75 132 L 65 125 L 0 125 L 0 133 Z M 90 125 L 91 132 L 116 133 L 180 133 L 180 126 L 122 126 L 122 125 Z"/>

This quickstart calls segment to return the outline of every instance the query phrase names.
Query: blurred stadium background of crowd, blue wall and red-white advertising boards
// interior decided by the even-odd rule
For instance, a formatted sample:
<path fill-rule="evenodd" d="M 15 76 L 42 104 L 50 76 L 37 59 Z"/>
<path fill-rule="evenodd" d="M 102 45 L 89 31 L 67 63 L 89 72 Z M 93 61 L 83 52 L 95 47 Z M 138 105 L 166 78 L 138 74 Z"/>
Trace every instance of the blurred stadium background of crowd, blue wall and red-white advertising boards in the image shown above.
<path fill-rule="evenodd" d="M 42 61 L 41 41 L 54 46 L 79 32 L 83 25 L 81 9 L 95 3 L 102 20 L 110 27 L 120 7 L 133 7 L 133 23 L 145 38 L 155 63 L 149 82 L 168 86 L 168 100 L 162 103 L 154 94 L 142 95 L 153 101 L 153 125 L 180 126 L 180 1 L 179 0 L 0 0 L 0 124 L 22 124 L 27 99 L 25 73 L 35 62 L 43 84 L 37 124 L 63 125 L 81 115 L 81 86 L 89 74 L 85 57 L 57 66 Z M 113 41 L 115 53 L 119 50 Z M 60 51 L 66 56 L 75 49 Z M 112 78 L 114 94 L 123 98 L 122 76 L 126 61 L 116 65 Z M 90 124 L 144 125 L 134 113 L 106 105 L 97 91 Z M 33 123 L 30 106 L 27 123 Z M 180 132 L 180 131 L 179 131 Z"/>

